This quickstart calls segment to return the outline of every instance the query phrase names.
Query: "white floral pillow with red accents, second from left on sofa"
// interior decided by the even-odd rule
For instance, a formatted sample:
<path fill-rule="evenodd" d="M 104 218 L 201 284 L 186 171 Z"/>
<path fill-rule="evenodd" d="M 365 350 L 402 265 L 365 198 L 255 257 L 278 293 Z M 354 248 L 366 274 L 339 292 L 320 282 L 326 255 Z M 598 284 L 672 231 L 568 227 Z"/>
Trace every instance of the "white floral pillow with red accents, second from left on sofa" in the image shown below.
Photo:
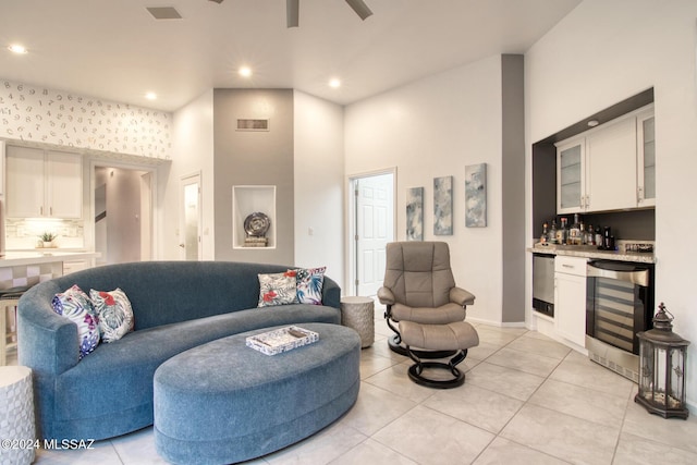
<path fill-rule="evenodd" d="M 99 317 L 99 332 L 102 342 L 118 341 L 133 331 L 133 308 L 126 293 L 117 287 L 113 291 L 89 291 Z"/>

